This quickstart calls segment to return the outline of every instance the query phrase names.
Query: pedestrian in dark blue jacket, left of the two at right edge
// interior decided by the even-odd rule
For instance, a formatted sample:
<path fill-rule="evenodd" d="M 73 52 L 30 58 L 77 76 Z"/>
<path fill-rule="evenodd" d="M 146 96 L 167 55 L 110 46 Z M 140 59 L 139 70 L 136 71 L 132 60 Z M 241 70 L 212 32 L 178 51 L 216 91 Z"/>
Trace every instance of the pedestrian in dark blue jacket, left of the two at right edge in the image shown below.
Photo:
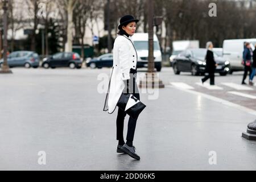
<path fill-rule="evenodd" d="M 242 85 L 246 85 L 246 77 L 251 75 L 251 59 L 253 57 L 253 50 L 251 49 L 250 43 L 245 43 L 245 50 L 243 51 L 243 65 L 245 66 L 244 73 L 243 73 L 243 80 Z"/>

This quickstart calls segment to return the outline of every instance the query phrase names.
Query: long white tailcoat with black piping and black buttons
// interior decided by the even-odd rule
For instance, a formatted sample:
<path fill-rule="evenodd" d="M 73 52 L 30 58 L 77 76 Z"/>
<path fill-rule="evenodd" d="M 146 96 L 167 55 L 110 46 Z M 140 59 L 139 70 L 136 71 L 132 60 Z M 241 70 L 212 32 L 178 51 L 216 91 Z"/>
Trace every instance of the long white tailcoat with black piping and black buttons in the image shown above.
<path fill-rule="evenodd" d="M 130 69 L 137 69 L 138 55 L 130 38 L 118 35 L 114 42 L 113 68 L 106 94 L 104 111 L 112 114 L 125 88 L 123 80 L 130 79 Z"/>

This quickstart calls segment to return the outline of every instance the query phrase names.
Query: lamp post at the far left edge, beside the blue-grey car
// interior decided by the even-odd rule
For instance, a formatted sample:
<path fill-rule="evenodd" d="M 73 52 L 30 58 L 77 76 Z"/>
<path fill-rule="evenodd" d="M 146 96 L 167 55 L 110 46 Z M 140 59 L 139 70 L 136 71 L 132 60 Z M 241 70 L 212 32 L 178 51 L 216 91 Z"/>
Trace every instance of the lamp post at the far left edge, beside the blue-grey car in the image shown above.
<path fill-rule="evenodd" d="M 3 0 L 3 64 L 0 73 L 13 73 L 9 69 L 9 65 L 7 63 L 7 2 L 8 0 Z"/>

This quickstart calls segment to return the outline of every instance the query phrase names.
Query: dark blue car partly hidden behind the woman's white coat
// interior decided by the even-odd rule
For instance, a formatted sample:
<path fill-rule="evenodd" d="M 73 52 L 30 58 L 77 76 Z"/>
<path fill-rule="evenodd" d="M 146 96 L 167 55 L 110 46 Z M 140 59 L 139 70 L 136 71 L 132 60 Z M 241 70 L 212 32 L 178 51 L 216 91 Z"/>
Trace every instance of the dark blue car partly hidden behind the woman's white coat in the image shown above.
<path fill-rule="evenodd" d="M 102 68 L 102 67 L 113 67 L 113 54 L 106 53 L 105 55 L 101 55 L 100 57 L 96 57 L 94 59 L 86 60 L 86 67 L 90 68 Z"/>

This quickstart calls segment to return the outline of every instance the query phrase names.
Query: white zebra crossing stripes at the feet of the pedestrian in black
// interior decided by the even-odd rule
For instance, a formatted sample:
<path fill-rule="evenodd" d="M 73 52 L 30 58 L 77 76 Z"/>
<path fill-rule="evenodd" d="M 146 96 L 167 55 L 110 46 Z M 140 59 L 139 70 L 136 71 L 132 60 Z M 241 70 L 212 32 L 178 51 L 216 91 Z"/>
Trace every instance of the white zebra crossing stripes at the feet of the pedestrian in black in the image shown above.
<path fill-rule="evenodd" d="M 201 82 L 195 82 L 195 83 L 191 83 L 191 84 L 187 84 L 185 82 L 170 82 L 170 84 L 172 86 L 174 86 L 175 88 L 179 88 L 179 89 L 186 89 L 186 90 L 195 90 L 198 89 L 200 86 L 200 88 L 204 88 L 204 89 L 208 89 L 208 90 L 220 90 L 220 91 L 224 91 L 227 90 L 228 94 L 232 94 L 235 96 L 240 96 L 243 98 L 250 98 L 250 99 L 256 99 L 256 93 L 243 93 L 246 91 L 251 91 L 251 90 L 256 90 L 255 86 L 246 86 L 246 85 L 241 85 L 241 84 L 236 84 L 233 82 L 221 82 L 218 85 L 210 85 L 208 83 L 204 83 L 202 84 Z M 238 92 L 239 91 L 239 92 Z"/>

